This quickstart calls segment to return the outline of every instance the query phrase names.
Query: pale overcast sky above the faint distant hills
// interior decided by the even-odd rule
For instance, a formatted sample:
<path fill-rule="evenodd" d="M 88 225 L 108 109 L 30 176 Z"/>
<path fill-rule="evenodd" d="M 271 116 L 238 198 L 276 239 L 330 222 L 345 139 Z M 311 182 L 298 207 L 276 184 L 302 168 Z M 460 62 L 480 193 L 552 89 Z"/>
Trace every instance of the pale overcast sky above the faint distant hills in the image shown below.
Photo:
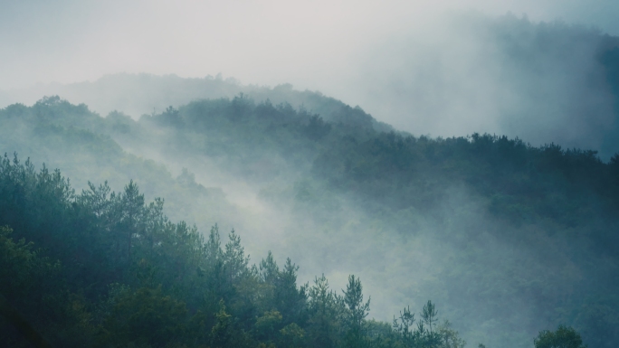
<path fill-rule="evenodd" d="M 619 2 L 608 0 L 2 2 L 0 89 L 120 71 L 221 72 L 243 83 L 337 94 L 338 80 L 360 73 L 350 68 L 356 54 L 423 31 L 434 14 L 452 9 L 563 18 L 619 33 Z"/>

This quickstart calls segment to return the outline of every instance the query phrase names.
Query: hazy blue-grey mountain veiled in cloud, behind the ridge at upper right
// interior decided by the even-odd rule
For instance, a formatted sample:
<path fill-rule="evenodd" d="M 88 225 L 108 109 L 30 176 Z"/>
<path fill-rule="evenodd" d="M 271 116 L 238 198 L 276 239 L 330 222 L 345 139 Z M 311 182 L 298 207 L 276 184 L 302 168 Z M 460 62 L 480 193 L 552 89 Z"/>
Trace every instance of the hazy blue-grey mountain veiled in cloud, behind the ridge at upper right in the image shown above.
<path fill-rule="evenodd" d="M 446 15 L 430 33 L 386 38 L 359 65 L 364 106 L 414 134 L 488 132 L 600 150 L 615 99 L 595 29 L 508 14 Z M 604 148 L 605 157 L 619 150 Z"/>

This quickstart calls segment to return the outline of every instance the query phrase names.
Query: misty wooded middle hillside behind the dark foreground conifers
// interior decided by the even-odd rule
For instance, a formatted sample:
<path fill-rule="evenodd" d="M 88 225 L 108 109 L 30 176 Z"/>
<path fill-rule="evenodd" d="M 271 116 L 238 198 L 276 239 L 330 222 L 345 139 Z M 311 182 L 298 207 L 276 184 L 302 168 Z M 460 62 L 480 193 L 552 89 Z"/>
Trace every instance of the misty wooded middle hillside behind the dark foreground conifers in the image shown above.
<path fill-rule="evenodd" d="M 78 188 L 134 179 L 165 193 L 175 220 L 223 221 L 252 254 L 293 255 L 300 279 L 359 275 L 378 318 L 432 298 L 470 343 L 529 346 L 565 323 L 611 346 L 618 157 L 382 132 L 345 105 L 332 115 L 237 96 L 135 121 L 48 98 L 0 120 L 5 152 L 67 168 Z"/>

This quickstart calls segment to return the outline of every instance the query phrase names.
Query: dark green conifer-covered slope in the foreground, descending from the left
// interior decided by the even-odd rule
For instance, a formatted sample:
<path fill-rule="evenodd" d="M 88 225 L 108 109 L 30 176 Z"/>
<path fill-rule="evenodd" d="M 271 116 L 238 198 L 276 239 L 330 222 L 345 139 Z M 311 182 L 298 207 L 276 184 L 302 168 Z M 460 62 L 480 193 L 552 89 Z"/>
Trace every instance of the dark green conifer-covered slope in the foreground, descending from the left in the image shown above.
<path fill-rule="evenodd" d="M 216 226 L 205 238 L 162 209 L 136 183 L 75 194 L 59 171 L 5 156 L 0 223 L 14 230 L 0 228 L 3 345 L 463 346 L 432 302 L 416 323 L 408 308 L 393 327 L 367 320 L 357 277 L 341 294 L 324 276 L 299 287 L 290 259 L 250 266 L 234 231 L 222 245 Z"/>

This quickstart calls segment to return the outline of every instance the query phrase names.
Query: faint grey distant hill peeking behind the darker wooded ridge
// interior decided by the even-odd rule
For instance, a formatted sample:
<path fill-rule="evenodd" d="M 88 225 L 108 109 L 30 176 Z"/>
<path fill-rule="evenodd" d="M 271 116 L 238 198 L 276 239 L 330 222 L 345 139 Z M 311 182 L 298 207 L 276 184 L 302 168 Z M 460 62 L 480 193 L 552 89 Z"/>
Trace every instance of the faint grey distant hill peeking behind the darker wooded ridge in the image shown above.
<path fill-rule="evenodd" d="M 236 80 L 224 80 L 221 77 L 185 79 L 176 75 L 157 76 L 147 73 L 119 73 L 93 82 L 49 84 L 4 91 L 0 92 L 0 106 L 16 102 L 31 105 L 42 96 L 58 95 L 74 104 L 86 104 L 90 110 L 104 117 L 112 111 L 119 111 L 138 119 L 142 115 L 160 113 L 170 106 L 178 107 L 194 100 L 232 99 L 239 94 L 256 100 L 270 99 L 275 105 L 285 102 L 293 108 L 304 108 L 336 122 L 340 120 L 340 110 L 348 107 L 319 92 L 295 90 L 288 84 L 274 88 L 243 86 Z M 375 118 L 368 119 L 377 129 L 393 130 Z"/>

